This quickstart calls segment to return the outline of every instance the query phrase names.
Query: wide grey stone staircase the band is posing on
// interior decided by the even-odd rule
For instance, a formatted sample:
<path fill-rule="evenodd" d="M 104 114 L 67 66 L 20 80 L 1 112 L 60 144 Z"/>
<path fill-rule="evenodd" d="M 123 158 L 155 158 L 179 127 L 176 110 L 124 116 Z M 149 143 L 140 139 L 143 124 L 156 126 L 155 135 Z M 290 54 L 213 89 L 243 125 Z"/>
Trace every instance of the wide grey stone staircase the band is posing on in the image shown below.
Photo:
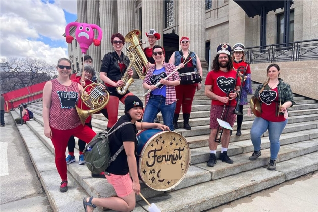
<path fill-rule="evenodd" d="M 166 192 L 155 191 L 141 184 L 141 193 L 161 211 L 204 211 L 318 170 L 318 103 L 301 96 L 294 97 L 296 105 L 289 109 L 288 124 L 280 138 L 281 149 L 276 171 L 268 171 L 264 167 L 270 156 L 268 132 L 262 138 L 262 156 L 256 161 L 248 160 L 254 150 L 250 140 L 254 116 L 246 115 L 247 107 L 244 107 L 242 135 L 235 136 L 235 123 L 228 148 L 228 155 L 234 163 L 227 164 L 218 160 L 215 167 L 207 167 L 210 100 L 204 96 L 202 87 L 203 90 L 197 91 L 192 105 L 192 129 L 176 130 L 186 138 L 191 148 L 192 166 L 185 178 L 173 190 Z M 129 90 L 143 100 L 140 80 L 135 80 Z M 115 196 L 115 191 L 106 180 L 92 178 L 86 166 L 77 163 L 68 165 L 69 190 L 60 193 L 54 148 L 50 139 L 44 136 L 42 108 L 42 102 L 29 105 L 28 109 L 33 111 L 34 118 L 27 125 L 18 125 L 18 129 L 54 210 L 83 211 L 84 197 Z M 16 118 L 19 111 L 11 111 L 11 114 Z M 124 105 L 120 104 L 118 115 L 123 114 Z M 162 121 L 160 114 L 158 117 Z M 92 125 L 96 132 L 102 131 L 107 125 L 107 119 L 103 115 L 94 114 Z M 183 126 L 182 115 L 179 116 L 178 125 Z M 217 158 L 220 150 L 221 145 L 217 149 Z M 75 155 L 78 162 L 78 150 Z M 134 211 L 147 211 L 147 208 L 147 204 L 137 196 Z M 94 211 L 101 211 L 101 208 Z"/>

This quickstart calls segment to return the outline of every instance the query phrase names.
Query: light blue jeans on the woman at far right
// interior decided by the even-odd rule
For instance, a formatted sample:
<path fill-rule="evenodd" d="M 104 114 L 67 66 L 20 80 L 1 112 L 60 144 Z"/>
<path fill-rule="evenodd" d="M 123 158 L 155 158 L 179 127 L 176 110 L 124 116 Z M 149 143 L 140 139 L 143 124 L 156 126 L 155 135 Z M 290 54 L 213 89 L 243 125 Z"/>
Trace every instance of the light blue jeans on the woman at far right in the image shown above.
<path fill-rule="evenodd" d="M 281 136 L 287 122 L 288 119 L 286 119 L 284 122 L 269 122 L 261 117 L 255 117 L 251 129 L 251 139 L 254 146 L 254 150 L 260 151 L 260 136 L 262 136 L 262 134 L 264 134 L 264 132 L 266 132 L 266 130 L 268 129 L 271 159 L 276 160 L 280 148 L 279 137 Z"/>

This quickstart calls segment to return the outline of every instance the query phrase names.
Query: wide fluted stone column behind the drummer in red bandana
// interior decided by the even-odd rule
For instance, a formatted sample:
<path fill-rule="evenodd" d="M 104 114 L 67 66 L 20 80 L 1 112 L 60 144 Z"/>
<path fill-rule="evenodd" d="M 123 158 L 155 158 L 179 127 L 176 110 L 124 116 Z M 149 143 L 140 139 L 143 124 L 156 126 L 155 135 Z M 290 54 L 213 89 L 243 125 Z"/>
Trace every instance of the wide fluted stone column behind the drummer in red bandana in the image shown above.
<path fill-rule="evenodd" d="M 200 58 L 203 71 L 207 70 L 208 64 L 205 60 L 205 1 L 183 0 L 182 4 L 178 4 L 178 9 L 179 37 L 190 38 L 190 50 L 194 51 Z"/>

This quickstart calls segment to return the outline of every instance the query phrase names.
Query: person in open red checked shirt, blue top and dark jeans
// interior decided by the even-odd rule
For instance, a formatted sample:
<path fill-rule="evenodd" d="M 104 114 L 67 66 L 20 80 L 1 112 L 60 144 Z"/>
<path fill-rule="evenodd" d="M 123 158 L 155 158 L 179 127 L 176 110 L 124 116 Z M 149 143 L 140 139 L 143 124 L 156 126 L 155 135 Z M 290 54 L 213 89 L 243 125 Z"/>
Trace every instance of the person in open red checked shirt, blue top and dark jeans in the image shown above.
<path fill-rule="evenodd" d="M 180 77 L 176 66 L 166 63 L 164 48 L 160 45 L 153 46 L 152 57 L 155 60 L 155 66 L 150 67 L 143 81 L 142 86 L 151 90 L 146 96 L 146 108 L 142 122 L 153 123 L 154 118 L 161 112 L 164 125 L 170 130 L 174 130 L 172 124 L 173 114 L 176 108 L 175 86 L 180 84 Z M 172 75 L 166 78 L 169 74 Z M 160 83 L 158 87 L 155 85 Z"/>

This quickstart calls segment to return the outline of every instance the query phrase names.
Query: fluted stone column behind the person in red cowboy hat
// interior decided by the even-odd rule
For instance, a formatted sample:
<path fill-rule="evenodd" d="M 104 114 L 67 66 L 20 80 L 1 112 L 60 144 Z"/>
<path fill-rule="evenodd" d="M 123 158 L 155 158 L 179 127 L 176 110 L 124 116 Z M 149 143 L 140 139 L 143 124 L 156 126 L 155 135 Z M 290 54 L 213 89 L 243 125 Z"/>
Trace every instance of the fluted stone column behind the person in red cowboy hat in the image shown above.
<path fill-rule="evenodd" d="M 142 41 L 146 42 L 144 47 L 149 46 L 146 32 L 155 29 L 161 38 L 156 42 L 157 45 L 163 46 L 163 29 L 164 29 L 164 2 L 157 0 L 142 1 Z"/>

